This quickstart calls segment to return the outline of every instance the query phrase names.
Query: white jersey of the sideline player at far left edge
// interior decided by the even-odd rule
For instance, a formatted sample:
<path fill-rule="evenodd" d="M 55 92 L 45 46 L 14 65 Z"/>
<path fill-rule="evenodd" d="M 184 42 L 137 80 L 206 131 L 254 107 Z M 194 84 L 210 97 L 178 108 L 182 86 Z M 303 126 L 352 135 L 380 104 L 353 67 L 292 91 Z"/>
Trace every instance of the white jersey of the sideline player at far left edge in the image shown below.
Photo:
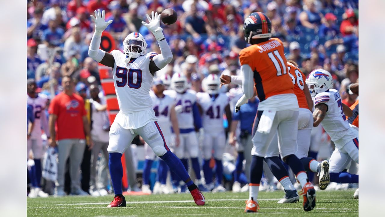
<path fill-rule="evenodd" d="M 36 98 L 31 98 L 27 94 L 27 104 L 33 107 L 33 116 L 35 117 L 34 127 L 31 132 L 32 139 L 39 139 L 42 137 L 42 124 L 41 115 L 45 115 L 44 109 L 47 103 L 47 96 L 44 94 L 38 94 Z"/>

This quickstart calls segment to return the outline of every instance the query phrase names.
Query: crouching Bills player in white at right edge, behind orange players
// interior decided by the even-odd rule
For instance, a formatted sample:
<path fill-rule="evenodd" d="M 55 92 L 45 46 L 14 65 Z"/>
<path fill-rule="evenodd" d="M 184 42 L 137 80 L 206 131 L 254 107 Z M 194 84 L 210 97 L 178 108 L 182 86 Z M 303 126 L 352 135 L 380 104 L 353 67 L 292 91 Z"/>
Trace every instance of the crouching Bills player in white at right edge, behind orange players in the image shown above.
<path fill-rule="evenodd" d="M 344 170 L 353 159 L 358 163 L 358 131 L 350 127 L 345 114 L 352 110 L 341 102 L 340 93 L 333 89 L 331 74 L 316 69 L 306 83 L 314 98 L 314 127 L 322 125 L 336 148 L 330 157 L 330 181 L 338 183 L 358 183 L 358 175 Z"/>

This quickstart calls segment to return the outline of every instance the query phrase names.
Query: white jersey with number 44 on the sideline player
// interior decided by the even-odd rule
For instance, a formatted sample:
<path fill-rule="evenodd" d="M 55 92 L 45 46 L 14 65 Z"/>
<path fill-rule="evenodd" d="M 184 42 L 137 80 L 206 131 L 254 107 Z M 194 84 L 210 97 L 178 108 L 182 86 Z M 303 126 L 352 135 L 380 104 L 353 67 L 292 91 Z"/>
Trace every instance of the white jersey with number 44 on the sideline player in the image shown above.
<path fill-rule="evenodd" d="M 152 91 L 150 92 L 150 97 L 152 99 L 152 108 L 154 109 L 155 116 L 158 119 L 159 127 L 161 127 L 164 135 L 170 135 L 170 111 L 174 106 L 175 100 L 168 95 L 164 95 L 163 98 L 159 98 Z"/>

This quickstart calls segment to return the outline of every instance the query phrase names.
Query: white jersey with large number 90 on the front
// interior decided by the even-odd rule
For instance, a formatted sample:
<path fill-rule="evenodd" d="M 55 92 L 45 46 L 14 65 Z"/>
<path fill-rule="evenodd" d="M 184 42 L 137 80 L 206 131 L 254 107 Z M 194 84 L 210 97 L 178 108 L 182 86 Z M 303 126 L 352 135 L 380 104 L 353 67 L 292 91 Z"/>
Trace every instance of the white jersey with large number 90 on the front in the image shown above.
<path fill-rule="evenodd" d="M 125 114 L 144 111 L 152 108 L 149 95 L 152 79 L 149 70 L 151 59 L 156 53 L 131 59 L 125 63 L 126 55 L 121 51 L 111 51 L 115 64 L 112 70 L 115 92 L 121 112 Z"/>

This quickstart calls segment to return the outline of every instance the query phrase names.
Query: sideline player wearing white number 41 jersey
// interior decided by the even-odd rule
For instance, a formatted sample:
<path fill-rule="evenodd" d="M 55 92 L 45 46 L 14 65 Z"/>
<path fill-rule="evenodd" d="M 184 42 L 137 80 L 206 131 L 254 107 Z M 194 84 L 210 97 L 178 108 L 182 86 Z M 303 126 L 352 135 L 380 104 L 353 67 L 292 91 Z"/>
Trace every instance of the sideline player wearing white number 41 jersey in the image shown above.
<path fill-rule="evenodd" d="M 202 82 L 204 93 L 196 94 L 198 105 L 202 110 L 202 122 L 204 129 L 204 139 L 202 144 L 203 151 L 203 172 L 206 180 L 207 190 L 213 192 L 225 192 L 226 188 L 222 185 L 223 164 L 222 155 L 226 144 L 226 135 L 223 127 L 223 114 L 229 125 L 231 125 L 231 110 L 229 106 L 229 94 L 219 93 L 221 81 L 217 75 L 208 75 Z M 214 153 L 213 153 L 214 150 Z M 213 183 L 213 170 L 210 168 L 211 156 L 216 164 L 216 185 Z"/>

